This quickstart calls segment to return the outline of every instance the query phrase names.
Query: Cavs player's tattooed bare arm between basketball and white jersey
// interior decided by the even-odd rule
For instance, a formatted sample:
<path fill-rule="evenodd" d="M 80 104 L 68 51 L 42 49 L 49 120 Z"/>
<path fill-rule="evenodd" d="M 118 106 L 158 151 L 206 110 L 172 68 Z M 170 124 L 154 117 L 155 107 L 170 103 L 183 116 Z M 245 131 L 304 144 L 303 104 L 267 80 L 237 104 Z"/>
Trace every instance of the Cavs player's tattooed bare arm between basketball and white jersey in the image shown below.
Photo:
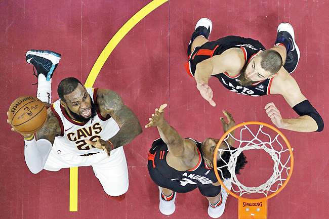
<path fill-rule="evenodd" d="M 59 121 L 51 108 L 48 108 L 47 121 L 44 126 L 36 133 L 37 139 L 47 139 L 54 144 L 55 137 L 61 134 L 61 127 Z"/>

